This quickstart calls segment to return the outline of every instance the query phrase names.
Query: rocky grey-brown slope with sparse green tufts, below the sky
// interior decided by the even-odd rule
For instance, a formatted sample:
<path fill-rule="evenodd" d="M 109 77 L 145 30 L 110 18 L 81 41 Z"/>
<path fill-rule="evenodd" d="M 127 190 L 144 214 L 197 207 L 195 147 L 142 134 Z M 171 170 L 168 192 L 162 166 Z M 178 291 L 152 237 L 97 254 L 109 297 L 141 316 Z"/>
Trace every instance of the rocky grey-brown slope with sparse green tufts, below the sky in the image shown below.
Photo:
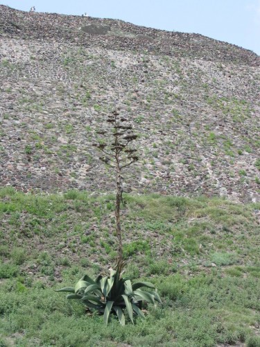
<path fill-rule="evenodd" d="M 256 201 L 260 58 L 198 34 L 0 6 L 0 180 L 114 188 L 92 147 L 115 107 L 139 133 L 136 192 Z"/>

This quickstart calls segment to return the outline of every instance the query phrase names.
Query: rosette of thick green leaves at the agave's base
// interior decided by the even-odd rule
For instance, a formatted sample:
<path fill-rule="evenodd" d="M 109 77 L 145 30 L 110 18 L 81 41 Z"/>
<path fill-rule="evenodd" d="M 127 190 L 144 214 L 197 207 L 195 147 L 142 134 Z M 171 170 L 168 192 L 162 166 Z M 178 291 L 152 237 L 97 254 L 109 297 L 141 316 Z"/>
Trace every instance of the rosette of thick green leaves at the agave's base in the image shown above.
<path fill-rule="evenodd" d="M 114 312 L 121 325 L 125 325 L 125 316 L 123 309 L 126 308 L 130 320 L 134 324 L 134 314 L 141 319 L 145 319 L 144 312 L 141 311 L 142 301 L 153 303 L 157 301 L 162 305 L 161 298 L 157 291 L 144 291 L 142 287 L 155 289 L 150 282 L 137 282 L 133 285 L 128 278 L 120 276 L 119 269 L 110 269 L 110 276 L 99 275 L 95 280 L 85 275 L 76 286 L 64 287 L 56 291 L 67 291 L 68 299 L 78 299 L 86 307 L 93 311 L 103 313 L 105 325 L 107 325 L 111 312 Z"/>

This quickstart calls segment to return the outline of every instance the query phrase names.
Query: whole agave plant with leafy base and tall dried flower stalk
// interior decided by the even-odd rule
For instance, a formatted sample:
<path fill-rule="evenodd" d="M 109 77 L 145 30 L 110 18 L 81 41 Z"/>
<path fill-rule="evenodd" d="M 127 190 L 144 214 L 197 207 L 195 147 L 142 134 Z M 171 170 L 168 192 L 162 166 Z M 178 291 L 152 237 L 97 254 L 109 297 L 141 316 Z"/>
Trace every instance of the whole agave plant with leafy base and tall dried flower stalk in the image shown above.
<path fill-rule="evenodd" d="M 144 291 L 141 288 L 146 287 L 155 289 L 150 282 L 137 282 L 132 285 L 129 278 L 123 278 L 123 242 L 121 230 L 121 203 L 123 203 L 123 181 L 121 171 L 125 167 L 138 160 L 135 155 L 136 149 L 130 147 L 130 143 L 137 139 L 137 135 L 133 133 L 132 125 L 128 123 L 128 119 L 121 117 L 114 110 L 112 115 L 108 116 L 107 122 L 110 124 L 111 133 L 107 135 L 107 130 L 100 130 L 98 134 L 105 135 L 105 139 L 100 139 L 94 146 L 98 151 L 102 152 L 101 161 L 115 171 L 116 185 L 116 208 L 114 211 L 116 237 L 117 237 L 117 260 L 116 270 L 110 269 L 110 276 L 98 276 L 92 280 L 85 275 L 77 283 L 75 288 L 65 287 L 57 291 L 67 291 L 68 299 L 78 299 L 85 304 L 89 310 L 98 311 L 103 314 L 104 323 L 107 325 L 111 312 L 118 317 L 121 325 L 125 325 L 125 316 L 123 312 L 127 312 L 132 323 L 134 323 L 134 315 L 145 319 L 144 312 L 141 311 L 143 301 L 147 303 L 155 302 L 162 305 L 161 298 L 157 291 Z"/>

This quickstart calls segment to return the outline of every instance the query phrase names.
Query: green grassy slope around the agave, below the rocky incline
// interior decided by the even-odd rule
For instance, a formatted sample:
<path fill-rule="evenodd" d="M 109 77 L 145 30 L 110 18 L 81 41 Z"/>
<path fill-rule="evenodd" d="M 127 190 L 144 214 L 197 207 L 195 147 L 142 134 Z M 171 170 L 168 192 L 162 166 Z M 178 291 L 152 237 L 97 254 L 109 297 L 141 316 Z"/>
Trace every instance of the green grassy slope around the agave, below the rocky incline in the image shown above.
<path fill-rule="evenodd" d="M 114 196 L 0 196 L 0 346 L 260 346 L 259 205 L 127 196 L 126 273 L 165 308 L 105 327 L 53 289 L 114 263 Z"/>

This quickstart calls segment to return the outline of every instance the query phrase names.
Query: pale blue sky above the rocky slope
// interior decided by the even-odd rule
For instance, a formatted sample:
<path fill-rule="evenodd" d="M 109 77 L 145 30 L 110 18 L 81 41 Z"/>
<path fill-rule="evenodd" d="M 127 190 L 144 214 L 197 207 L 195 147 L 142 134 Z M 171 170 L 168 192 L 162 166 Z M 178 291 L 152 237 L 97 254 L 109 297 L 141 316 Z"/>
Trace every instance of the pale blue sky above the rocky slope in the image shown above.
<path fill-rule="evenodd" d="M 182 33 L 199 33 L 260 56 L 260 0 L 0 0 L 17 10 L 122 19 Z"/>

